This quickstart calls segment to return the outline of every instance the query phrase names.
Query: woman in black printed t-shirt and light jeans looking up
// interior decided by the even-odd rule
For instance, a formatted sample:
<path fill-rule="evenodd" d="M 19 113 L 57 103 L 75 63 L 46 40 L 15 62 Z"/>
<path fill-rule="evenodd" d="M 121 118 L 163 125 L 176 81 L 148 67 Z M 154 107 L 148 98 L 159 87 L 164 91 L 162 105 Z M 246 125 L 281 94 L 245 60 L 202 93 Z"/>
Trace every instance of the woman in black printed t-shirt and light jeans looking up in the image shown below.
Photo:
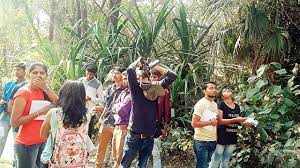
<path fill-rule="evenodd" d="M 240 107 L 234 103 L 233 92 L 230 89 L 223 89 L 221 101 L 218 102 L 218 127 L 217 127 L 217 146 L 212 155 L 210 168 L 227 168 L 232 152 L 237 144 L 237 127 L 246 118 L 240 117 Z M 219 166 L 221 162 L 221 166 Z"/>

